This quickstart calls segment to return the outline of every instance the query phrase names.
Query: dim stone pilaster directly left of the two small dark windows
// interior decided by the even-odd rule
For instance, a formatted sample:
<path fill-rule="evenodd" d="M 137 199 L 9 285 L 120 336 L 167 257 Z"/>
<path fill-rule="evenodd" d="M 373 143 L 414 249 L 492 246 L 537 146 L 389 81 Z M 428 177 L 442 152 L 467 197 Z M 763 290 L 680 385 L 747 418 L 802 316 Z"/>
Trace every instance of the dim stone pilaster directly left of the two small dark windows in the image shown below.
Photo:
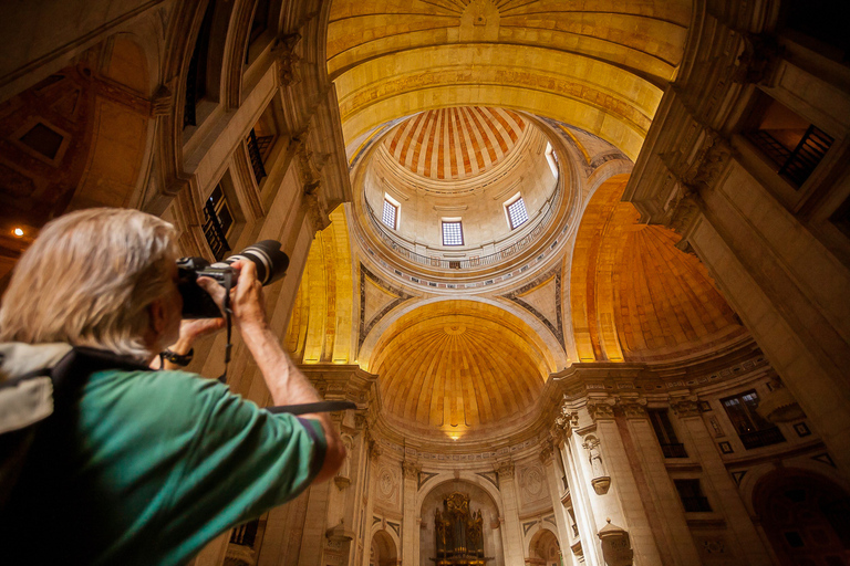
<path fill-rule="evenodd" d="M 676 489 L 670 479 L 659 439 L 646 415 L 646 401 L 622 403 L 632 442 L 632 458 L 640 462 L 646 493 L 644 502 L 652 509 L 652 525 L 664 564 L 690 566 L 699 564 L 699 556 L 687 527 Z M 677 460 L 680 461 L 680 460 Z"/>

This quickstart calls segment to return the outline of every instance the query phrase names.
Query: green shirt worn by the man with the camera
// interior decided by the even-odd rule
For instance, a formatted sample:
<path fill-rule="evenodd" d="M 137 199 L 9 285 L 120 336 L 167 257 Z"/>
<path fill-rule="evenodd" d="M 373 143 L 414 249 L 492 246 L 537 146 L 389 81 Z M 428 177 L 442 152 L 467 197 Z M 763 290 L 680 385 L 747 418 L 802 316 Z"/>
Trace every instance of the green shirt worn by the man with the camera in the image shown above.
<path fill-rule="evenodd" d="M 298 495 L 325 451 L 317 421 L 182 371 L 94 373 L 43 427 L 0 521 L 28 564 L 184 564 Z"/>

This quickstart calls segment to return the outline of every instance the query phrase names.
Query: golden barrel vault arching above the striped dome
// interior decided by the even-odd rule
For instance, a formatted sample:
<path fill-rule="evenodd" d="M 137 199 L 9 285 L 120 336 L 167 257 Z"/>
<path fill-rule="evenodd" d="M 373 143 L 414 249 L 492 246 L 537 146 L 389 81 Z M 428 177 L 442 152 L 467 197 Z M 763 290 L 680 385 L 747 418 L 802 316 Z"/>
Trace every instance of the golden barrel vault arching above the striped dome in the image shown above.
<path fill-rule="evenodd" d="M 346 145 L 446 106 L 572 124 L 635 159 L 675 78 L 690 0 L 334 0 L 328 72 Z"/>

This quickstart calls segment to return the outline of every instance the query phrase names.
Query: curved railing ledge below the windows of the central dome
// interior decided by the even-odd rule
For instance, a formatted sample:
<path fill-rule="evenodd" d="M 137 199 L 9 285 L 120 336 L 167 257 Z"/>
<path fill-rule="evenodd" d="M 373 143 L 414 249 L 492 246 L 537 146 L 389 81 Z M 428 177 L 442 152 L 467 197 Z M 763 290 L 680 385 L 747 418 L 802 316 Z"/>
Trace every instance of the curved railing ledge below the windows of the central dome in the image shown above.
<path fill-rule="evenodd" d="M 560 193 L 560 191 L 558 191 Z M 483 255 L 480 258 L 470 258 L 468 260 L 443 260 L 440 258 L 431 256 L 431 255 L 422 255 L 419 253 L 416 253 L 412 250 L 410 250 L 405 243 L 402 241 L 401 238 L 392 235 L 387 233 L 386 227 L 383 226 L 381 220 L 375 216 L 375 211 L 372 210 L 372 206 L 366 201 L 366 216 L 372 222 L 372 226 L 375 229 L 375 232 L 379 233 L 381 237 L 381 240 L 396 254 L 404 258 L 405 260 L 412 261 L 414 263 L 418 263 L 422 265 L 426 265 L 428 268 L 437 268 L 437 269 L 445 269 L 445 270 L 469 270 L 469 269 L 477 269 L 477 268 L 484 268 L 487 265 L 493 265 L 495 263 L 499 263 L 502 260 L 506 260 L 508 258 L 511 258 L 519 253 L 520 251 L 525 250 L 531 242 L 536 241 L 537 238 L 546 230 L 547 224 L 549 223 L 549 220 L 551 219 L 552 214 L 554 213 L 554 202 L 557 199 L 557 195 L 552 196 L 545 205 L 546 210 L 539 214 L 539 221 L 535 224 L 535 228 L 528 232 L 526 235 L 524 235 L 518 241 L 514 242 L 512 244 L 502 248 L 496 253 L 491 253 L 489 255 Z"/>

